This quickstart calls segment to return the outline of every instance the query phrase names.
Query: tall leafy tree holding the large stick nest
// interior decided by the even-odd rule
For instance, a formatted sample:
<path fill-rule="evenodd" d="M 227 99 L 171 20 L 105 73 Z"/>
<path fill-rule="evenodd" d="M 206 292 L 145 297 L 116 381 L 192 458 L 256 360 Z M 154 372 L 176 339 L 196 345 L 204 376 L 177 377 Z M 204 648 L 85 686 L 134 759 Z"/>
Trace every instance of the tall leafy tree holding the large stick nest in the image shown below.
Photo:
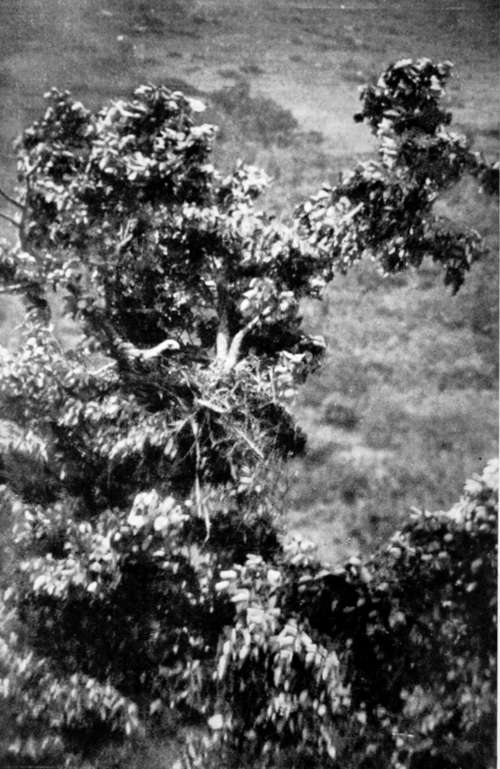
<path fill-rule="evenodd" d="M 19 753 L 91 752 L 165 711 L 184 725 L 213 718 L 220 639 L 247 596 L 221 583 L 249 553 L 271 571 L 283 558 L 272 487 L 304 447 L 287 405 L 324 349 L 300 300 L 366 253 L 387 272 L 431 256 L 454 289 L 481 255 L 476 233 L 433 210 L 463 173 L 484 187 L 495 174 L 446 129 L 449 69 L 398 62 L 368 87 L 359 117 L 378 161 L 289 225 L 256 208 L 261 172 L 214 169 L 214 129 L 179 92 L 141 87 L 94 114 L 52 91 L 24 132 L 21 196 L 2 193 L 19 244 L 0 261 L 29 308 L 0 378 L 18 426 L 2 664 Z M 75 349 L 52 333 L 52 289 L 81 328 Z M 300 653 L 319 654 L 321 688 L 337 666 L 308 638 Z M 318 739 L 331 757 L 328 729 Z"/>

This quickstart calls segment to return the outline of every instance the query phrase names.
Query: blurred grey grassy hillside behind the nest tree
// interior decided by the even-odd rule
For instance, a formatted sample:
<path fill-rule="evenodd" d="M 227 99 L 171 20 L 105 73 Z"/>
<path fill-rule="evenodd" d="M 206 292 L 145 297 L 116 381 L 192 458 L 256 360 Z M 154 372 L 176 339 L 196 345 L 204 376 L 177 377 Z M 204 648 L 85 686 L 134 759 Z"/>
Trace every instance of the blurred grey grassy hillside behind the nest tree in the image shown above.
<path fill-rule="evenodd" d="M 409 56 L 455 63 L 454 125 L 493 158 L 498 32 L 496 0 L 0 0 L 0 184 L 15 189 L 13 140 L 51 86 L 98 107 L 153 82 L 205 101 L 217 162 L 263 167 L 263 205 L 286 218 L 373 154 L 358 88 Z M 386 279 L 367 263 L 304 306 L 328 355 L 296 405 L 308 452 L 283 508 L 329 561 L 368 553 L 412 506 L 450 506 L 498 450 L 498 211 L 469 182 L 440 205 L 491 249 L 457 296 L 430 264 Z M 2 344 L 15 348 L 21 317 L 1 296 Z"/>

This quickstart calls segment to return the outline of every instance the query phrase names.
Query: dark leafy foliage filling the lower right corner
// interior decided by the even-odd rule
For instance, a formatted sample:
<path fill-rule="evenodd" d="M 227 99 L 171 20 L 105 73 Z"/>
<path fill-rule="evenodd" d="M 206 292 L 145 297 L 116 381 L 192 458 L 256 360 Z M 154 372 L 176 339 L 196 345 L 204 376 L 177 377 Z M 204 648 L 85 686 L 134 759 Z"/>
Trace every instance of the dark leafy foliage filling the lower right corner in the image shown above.
<path fill-rule="evenodd" d="M 492 462 L 365 565 L 295 542 L 221 574 L 220 742 L 262 766 L 493 766 L 497 516 Z"/>

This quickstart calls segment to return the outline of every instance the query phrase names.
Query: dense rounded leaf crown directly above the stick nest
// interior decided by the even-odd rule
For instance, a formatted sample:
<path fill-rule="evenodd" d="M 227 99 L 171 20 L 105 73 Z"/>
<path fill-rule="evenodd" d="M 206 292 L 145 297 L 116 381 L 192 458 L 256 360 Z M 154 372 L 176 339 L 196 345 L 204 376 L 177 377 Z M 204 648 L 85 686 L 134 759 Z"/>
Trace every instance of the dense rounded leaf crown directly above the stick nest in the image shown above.
<path fill-rule="evenodd" d="M 152 86 L 97 114 L 67 93 L 48 100 L 19 144 L 22 245 L 40 288 L 61 287 L 106 352 L 168 336 L 177 359 L 206 364 L 217 332 L 228 347 L 252 330 L 263 353 L 303 340 L 297 299 L 317 291 L 321 265 L 255 211 L 264 174 L 240 165 L 222 178 L 209 163 L 214 128 L 194 122 L 202 105 Z"/>

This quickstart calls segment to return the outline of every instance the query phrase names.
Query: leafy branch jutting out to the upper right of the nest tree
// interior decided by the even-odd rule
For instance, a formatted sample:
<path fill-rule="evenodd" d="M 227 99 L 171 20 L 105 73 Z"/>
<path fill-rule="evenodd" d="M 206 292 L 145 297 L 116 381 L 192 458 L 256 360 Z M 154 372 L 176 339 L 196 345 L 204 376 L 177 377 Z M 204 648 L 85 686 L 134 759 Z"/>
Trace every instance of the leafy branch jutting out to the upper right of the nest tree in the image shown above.
<path fill-rule="evenodd" d="M 311 242 L 329 251 L 341 270 L 365 252 L 387 272 L 419 267 L 431 257 L 456 291 L 480 258 L 478 233 L 458 229 L 434 209 L 439 194 L 464 173 L 498 193 L 498 166 L 447 128 L 451 114 L 439 100 L 450 70 L 449 62 L 404 59 L 363 90 L 356 119 L 369 122 L 379 140 L 378 161 L 360 164 L 298 212 Z"/>

